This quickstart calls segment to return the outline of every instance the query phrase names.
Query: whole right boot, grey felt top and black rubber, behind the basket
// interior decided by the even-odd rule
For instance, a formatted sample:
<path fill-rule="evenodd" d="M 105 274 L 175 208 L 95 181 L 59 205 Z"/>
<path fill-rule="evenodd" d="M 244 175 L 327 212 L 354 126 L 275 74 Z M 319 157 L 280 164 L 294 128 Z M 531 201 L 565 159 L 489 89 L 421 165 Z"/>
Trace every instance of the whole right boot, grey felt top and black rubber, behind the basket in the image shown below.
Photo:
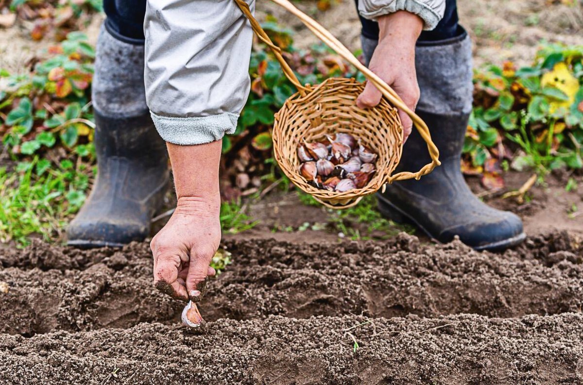
<path fill-rule="evenodd" d="M 363 38 L 368 58 L 375 41 Z M 372 49 L 371 49 L 372 47 Z M 365 49 L 366 48 L 366 49 Z M 468 35 L 417 44 L 417 114 L 427 123 L 440 151 L 441 166 L 416 181 L 394 182 L 379 193 L 378 207 L 395 222 L 409 222 L 431 238 L 447 243 L 458 235 L 476 250 L 500 250 L 525 239 L 522 221 L 481 202 L 463 178 L 461 153 L 472 111 L 472 51 Z M 418 171 L 430 163 L 427 145 L 413 129 L 395 172 Z"/>

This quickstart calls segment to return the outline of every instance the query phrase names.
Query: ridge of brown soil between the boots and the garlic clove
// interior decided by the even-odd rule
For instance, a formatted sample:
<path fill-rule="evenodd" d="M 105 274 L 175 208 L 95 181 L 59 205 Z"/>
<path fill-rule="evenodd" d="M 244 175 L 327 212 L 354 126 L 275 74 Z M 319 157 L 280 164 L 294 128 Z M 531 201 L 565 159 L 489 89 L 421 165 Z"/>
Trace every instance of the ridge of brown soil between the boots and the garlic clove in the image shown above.
<path fill-rule="evenodd" d="M 422 246 L 405 234 L 388 243 L 229 242 L 234 263 L 210 282 L 201 312 L 207 320 L 573 312 L 583 305 L 583 265 L 574 241 L 563 241 L 558 251 L 546 242 L 549 251 L 543 252 L 538 241 L 531 240 L 538 256 L 528 249 L 504 255 L 477 253 L 459 242 Z M 9 287 L 7 294 L 0 293 L 3 333 L 30 336 L 177 322 L 183 304 L 152 287 L 147 245 L 134 244 L 118 252 L 79 252 L 85 253 L 85 264 L 72 256 L 71 264 L 85 270 L 66 269 L 62 257 L 66 254 L 59 255 L 58 248 L 52 249 L 52 257 L 41 259 L 34 247 L 20 257 L 10 256 L 13 262 L 5 266 L 36 259 L 52 268 L 0 269 L 0 282 Z"/>

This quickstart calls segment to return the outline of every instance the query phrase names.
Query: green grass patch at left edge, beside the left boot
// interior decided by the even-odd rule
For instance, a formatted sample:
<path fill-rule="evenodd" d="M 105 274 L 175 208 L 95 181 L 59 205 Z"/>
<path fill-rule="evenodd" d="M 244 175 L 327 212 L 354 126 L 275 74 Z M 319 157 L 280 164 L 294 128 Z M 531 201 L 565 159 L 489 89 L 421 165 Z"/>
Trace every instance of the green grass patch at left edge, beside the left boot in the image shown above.
<path fill-rule="evenodd" d="M 0 242 L 30 243 L 62 239 L 73 213 L 85 202 L 92 169 L 63 160 L 51 164 L 35 157 L 14 171 L 0 168 Z"/>

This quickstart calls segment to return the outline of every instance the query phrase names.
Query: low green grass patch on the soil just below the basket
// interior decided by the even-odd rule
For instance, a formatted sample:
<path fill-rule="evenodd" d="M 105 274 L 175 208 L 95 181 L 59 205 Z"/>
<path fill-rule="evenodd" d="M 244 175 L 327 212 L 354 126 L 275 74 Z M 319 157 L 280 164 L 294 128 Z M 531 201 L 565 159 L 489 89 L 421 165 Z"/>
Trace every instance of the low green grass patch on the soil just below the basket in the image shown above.
<path fill-rule="evenodd" d="M 300 202 L 307 206 L 320 206 L 316 200 L 304 192 L 297 192 Z M 337 231 L 342 238 L 354 241 L 373 238 L 373 232 L 383 234 L 374 238 L 386 239 L 395 236 L 401 231 L 413 234 L 415 228 L 410 225 L 396 224 L 382 217 L 377 210 L 377 199 L 373 195 L 364 197 L 359 204 L 346 210 L 331 210 L 328 224 Z"/>

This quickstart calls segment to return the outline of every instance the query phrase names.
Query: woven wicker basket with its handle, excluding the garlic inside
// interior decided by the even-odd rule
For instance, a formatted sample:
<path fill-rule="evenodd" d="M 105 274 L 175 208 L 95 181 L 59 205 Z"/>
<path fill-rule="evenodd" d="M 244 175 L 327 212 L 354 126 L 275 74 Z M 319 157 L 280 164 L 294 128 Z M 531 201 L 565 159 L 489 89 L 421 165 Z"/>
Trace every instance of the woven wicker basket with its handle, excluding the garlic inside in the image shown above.
<path fill-rule="evenodd" d="M 330 78 L 322 84 L 311 86 L 300 84 L 293 70 L 287 65 L 281 51 L 269 39 L 257 20 L 252 15 L 247 2 L 234 0 L 244 15 L 250 20 L 251 27 L 260 40 L 273 51 L 282 66 L 287 79 L 296 86 L 298 92 L 293 94 L 282 109 L 275 114 L 273 124 L 273 151 L 275 159 L 283 172 L 298 188 L 310 194 L 318 202 L 333 209 L 347 209 L 357 204 L 363 196 L 379 189 L 384 190 L 385 183 L 403 179 L 416 178 L 428 174 L 437 165 L 439 151 L 433 142 L 427 125 L 415 112 L 411 111 L 394 90 L 383 82 L 366 66 L 362 65 L 352 53 L 332 36 L 324 27 L 302 13 L 287 0 L 272 0 L 296 15 L 317 37 L 340 56 L 356 66 L 368 81 L 373 82 L 381 91 L 383 98 L 374 108 L 363 110 L 356 107 L 356 98 L 364 90 L 364 84 L 354 79 Z M 427 143 L 431 163 L 417 172 L 399 172 L 392 175 L 401 160 L 403 149 L 403 126 L 396 108 L 405 111 L 413 120 L 415 127 Z M 346 132 L 361 139 L 365 146 L 378 154 L 375 164 L 377 172 L 367 186 L 347 192 L 320 190 L 308 185 L 298 172 L 300 161 L 297 157 L 298 144 L 324 139 L 326 134 Z"/>

